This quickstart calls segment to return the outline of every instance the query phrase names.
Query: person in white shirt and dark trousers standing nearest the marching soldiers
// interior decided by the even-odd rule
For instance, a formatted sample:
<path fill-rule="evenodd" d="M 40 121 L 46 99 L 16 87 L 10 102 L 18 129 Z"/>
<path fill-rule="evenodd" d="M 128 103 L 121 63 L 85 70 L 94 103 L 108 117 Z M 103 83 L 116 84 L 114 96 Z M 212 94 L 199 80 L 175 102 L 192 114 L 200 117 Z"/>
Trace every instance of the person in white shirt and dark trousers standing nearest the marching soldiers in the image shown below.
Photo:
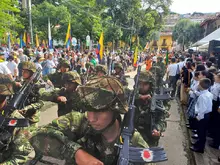
<path fill-rule="evenodd" d="M 177 73 L 177 64 L 175 63 L 176 59 L 173 57 L 171 58 L 171 64 L 168 65 L 167 68 L 167 76 L 168 76 L 168 80 L 169 80 L 169 87 L 172 87 L 173 90 L 171 92 L 171 97 L 175 97 L 175 93 L 176 93 L 176 73 Z"/>

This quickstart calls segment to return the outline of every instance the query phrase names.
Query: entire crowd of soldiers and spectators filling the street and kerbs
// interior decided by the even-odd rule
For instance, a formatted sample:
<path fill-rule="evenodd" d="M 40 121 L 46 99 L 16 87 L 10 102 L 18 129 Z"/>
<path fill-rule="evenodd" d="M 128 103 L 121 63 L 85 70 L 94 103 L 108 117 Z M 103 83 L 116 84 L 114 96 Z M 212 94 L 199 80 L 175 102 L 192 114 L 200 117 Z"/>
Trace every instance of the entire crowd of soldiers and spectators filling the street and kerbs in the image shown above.
<path fill-rule="evenodd" d="M 138 61 L 146 65 L 146 70 L 139 73 L 136 82 L 136 131 L 132 145 L 158 146 L 166 131 L 166 118 L 170 116 L 170 100 L 179 97 L 181 104 L 187 106 L 187 127 L 197 139 L 190 149 L 204 152 L 207 131 L 213 138 L 211 146 L 219 149 L 220 73 L 217 59 L 210 56 L 204 60 L 199 55 L 178 53 L 170 54 L 168 60 L 166 53 L 145 52 L 139 54 Z M 125 72 L 131 68 L 136 70 L 137 66 L 133 65 L 133 54 L 129 52 L 104 53 L 99 59 L 95 50 L 81 53 L 66 49 L 23 50 L 14 47 L 7 52 L 1 48 L 2 116 L 25 118 L 30 126 L 9 131 L 10 137 L 17 139 L 15 143 L 0 138 L 0 149 L 4 144 L 0 163 L 22 164 L 34 149 L 35 158 L 46 154 L 65 159 L 67 164 L 114 164 L 117 161 L 115 143 L 121 141 L 123 122 L 120 114 L 127 113 L 132 94 Z M 38 71 L 40 79 L 22 107 L 10 116 L 4 116 L 3 109 L 10 98 Z M 58 104 L 59 118 L 38 127 L 44 101 Z"/>

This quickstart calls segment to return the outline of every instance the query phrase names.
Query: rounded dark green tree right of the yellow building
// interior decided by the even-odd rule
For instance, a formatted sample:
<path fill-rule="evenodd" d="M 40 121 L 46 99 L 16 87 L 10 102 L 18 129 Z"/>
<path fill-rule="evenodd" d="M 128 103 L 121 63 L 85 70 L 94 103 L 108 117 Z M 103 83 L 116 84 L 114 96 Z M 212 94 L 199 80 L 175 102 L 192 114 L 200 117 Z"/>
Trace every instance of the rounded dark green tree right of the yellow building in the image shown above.
<path fill-rule="evenodd" d="M 199 23 L 194 23 L 189 19 L 181 19 L 177 22 L 173 30 L 173 39 L 178 44 L 189 46 L 202 38 L 203 29 Z"/>

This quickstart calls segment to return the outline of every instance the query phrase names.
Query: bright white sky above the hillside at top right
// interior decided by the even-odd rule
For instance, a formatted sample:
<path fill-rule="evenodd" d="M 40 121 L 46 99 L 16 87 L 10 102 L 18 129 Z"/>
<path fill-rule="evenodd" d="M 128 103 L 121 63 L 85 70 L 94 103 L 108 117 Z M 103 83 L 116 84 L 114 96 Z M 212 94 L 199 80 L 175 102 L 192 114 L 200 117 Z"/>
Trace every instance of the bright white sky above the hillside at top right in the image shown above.
<path fill-rule="evenodd" d="M 220 0 L 173 0 L 171 11 L 185 14 L 193 12 L 220 12 Z"/>

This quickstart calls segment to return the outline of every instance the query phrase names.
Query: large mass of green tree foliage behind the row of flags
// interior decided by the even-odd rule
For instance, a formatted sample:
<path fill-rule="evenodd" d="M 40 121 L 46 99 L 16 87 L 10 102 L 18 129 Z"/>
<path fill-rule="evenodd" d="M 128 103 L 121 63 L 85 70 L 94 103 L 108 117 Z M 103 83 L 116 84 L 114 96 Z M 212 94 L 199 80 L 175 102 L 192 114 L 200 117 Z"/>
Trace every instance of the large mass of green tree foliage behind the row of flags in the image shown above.
<path fill-rule="evenodd" d="M 170 1 L 32 0 L 33 30 L 41 40 L 47 39 L 50 18 L 54 39 L 65 40 L 68 23 L 71 22 L 72 36 L 81 41 L 85 41 L 87 35 L 97 41 L 103 31 L 105 42 L 118 43 L 122 40 L 130 43 L 131 37 L 138 35 L 140 44 L 144 46 L 146 39 L 161 28 Z M 22 10 L 20 16 L 19 20 L 28 30 L 27 10 Z M 17 29 L 17 32 L 23 33 L 21 29 Z"/>

